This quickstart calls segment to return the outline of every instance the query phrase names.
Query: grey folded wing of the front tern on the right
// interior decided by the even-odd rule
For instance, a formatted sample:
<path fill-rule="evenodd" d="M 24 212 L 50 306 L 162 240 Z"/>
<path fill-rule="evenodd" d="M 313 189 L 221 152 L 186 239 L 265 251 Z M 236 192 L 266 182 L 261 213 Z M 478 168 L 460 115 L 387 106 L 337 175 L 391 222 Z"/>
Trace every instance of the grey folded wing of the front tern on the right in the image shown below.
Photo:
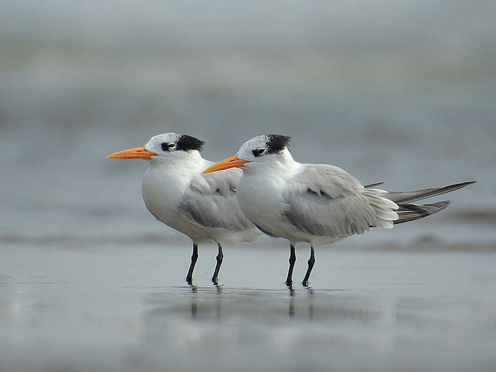
<path fill-rule="evenodd" d="M 390 228 L 398 206 L 340 168 L 304 165 L 296 185 L 285 195 L 284 217 L 303 232 L 342 238 L 363 234 L 372 226 Z"/>

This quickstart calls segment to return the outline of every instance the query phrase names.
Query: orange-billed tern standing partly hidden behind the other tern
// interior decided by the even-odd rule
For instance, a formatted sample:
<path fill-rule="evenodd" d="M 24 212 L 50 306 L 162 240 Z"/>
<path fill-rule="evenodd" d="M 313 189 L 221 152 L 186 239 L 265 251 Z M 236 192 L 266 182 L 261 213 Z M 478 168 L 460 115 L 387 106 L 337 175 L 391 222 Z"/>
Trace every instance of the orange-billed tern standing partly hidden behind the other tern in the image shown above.
<path fill-rule="evenodd" d="M 245 217 L 236 198 L 243 172 L 232 169 L 203 175 L 201 172 L 214 164 L 201 157 L 203 144 L 186 134 L 164 133 L 152 137 L 143 147 L 107 156 L 148 160 L 150 166 L 141 184 L 143 201 L 157 220 L 192 240 L 193 253 L 186 275 L 190 285 L 200 243 L 217 243 L 217 264 L 212 276 L 212 282 L 217 284 L 224 258 L 222 244 L 252 242 L 262 235 Z"/>

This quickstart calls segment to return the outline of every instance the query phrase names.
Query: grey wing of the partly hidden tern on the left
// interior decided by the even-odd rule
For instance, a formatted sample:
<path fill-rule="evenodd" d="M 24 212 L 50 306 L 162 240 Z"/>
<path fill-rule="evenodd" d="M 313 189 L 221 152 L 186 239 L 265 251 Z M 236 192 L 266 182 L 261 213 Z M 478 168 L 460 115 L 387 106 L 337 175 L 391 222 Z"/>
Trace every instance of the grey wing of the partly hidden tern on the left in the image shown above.
<path fill-rule="evenodd" d="M 194 177 L 183 195 L 179 212 L 189 222 L 202 227 L 229 231 L 253 229 L 236 197 L 242 174 L 235 168 Z"/>

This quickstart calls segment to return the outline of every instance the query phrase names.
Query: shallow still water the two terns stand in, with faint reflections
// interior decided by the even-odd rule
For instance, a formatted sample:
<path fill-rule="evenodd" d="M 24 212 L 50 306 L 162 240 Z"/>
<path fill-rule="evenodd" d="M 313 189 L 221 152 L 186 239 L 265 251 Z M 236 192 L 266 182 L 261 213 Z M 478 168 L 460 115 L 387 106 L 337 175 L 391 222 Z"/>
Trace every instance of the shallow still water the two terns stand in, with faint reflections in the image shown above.
<path fill-rule="evenodd" d="M 3 370 L 492 371 L 495 253 L 3 246 Z M 297 250 L 295 280 L 308 249 Z"/>

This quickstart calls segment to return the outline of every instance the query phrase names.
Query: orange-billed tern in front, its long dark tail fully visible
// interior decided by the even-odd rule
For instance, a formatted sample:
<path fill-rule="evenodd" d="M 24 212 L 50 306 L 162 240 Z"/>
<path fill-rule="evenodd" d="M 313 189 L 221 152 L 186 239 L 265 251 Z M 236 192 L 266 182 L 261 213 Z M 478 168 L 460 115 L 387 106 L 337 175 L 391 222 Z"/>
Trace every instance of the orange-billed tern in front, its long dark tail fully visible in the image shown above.
<path fill-rule="evenodd" d="M 238 167 L 238 202 L 253 224 L 268 236 L 290 243 L 286 285 L 292 286 L 295 246 L 310 243 L 310 259 L 303 285 L 308 287 L 315 262 L 314 247 L 363 234 L 372 227 L 390 229 L 446 208 L 450 201 L 410 204 L 473 184 L 416 191 L 384 191 L 363 186 L 346 171 L 327 164 L 301 164 L 288 150 L 289 136 L 267 134 L 245 142 L 238 153 L 203 173 Z"/>

